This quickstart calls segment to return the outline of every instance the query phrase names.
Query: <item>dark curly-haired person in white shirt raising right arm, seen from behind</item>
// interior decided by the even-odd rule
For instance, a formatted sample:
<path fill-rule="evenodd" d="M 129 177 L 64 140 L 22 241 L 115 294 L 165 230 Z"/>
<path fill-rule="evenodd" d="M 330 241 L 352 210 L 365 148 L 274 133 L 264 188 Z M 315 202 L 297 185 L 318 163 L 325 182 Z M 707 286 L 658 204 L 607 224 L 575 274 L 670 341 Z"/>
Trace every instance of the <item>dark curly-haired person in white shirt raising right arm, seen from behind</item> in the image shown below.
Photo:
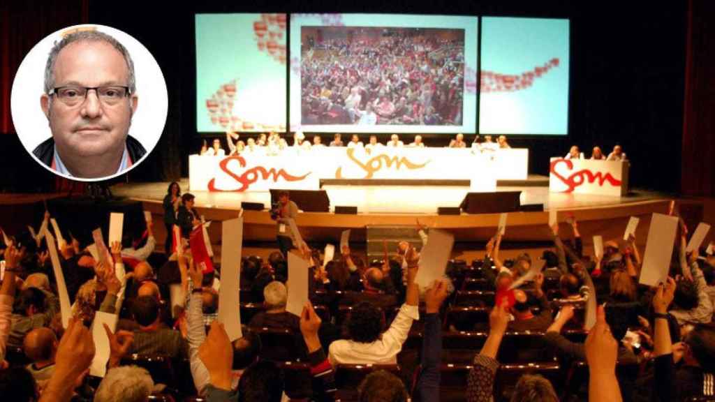
<path fill-rule="evenodd" d="M 380 335 L 383 311 L 368 302 L 353 306 L 347 330 L 350 340 L 335 340 L 330 344 L 328 360 L 335 364 L 395 364 L 402 345 L 407 340 L 413 320 L 420 319 L 418 286 L 415 284 L 417 260 L 410 258 L 405 304 L 390 328 Z"/>

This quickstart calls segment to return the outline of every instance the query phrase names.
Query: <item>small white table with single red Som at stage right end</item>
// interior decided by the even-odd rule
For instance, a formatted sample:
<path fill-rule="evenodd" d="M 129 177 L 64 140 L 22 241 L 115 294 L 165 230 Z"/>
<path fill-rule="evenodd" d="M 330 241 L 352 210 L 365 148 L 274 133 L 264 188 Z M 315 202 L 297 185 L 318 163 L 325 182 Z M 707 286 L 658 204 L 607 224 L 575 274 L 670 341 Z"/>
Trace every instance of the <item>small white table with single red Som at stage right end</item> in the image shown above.
<path fill-rule="evenodd" d="M 628 161 L 566 160 L 551 158 L 548 175 L 550 192 L 613 195 L 628 194 Z"/>

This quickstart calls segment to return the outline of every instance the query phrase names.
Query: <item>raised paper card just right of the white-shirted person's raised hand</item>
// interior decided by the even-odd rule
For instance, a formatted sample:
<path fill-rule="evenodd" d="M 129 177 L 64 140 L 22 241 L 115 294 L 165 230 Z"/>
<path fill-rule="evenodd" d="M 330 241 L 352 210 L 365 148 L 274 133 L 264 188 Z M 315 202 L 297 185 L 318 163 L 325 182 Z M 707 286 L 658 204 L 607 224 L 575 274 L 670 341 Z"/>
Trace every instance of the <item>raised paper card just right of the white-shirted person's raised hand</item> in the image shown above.
<path fill-rule="evenodd" d="M 453 246 L 454 236 L 450 232 L 430 230 L 427 244 L 420 251 L 419 270 L 415 278 L 420 288 L 428 288 L 444 276 Z"/>

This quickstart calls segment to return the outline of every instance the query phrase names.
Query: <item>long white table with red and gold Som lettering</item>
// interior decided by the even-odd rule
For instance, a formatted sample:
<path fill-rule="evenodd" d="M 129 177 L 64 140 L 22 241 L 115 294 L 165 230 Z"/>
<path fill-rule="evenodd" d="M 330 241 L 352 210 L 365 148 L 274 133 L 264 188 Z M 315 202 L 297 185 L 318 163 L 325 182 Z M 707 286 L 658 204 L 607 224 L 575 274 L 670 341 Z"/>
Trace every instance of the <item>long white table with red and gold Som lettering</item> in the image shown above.
<path fill-rule="evenodd" d="M 493 191 L 496 180 L 526 180 L 528 149 L 289 147 L 230 157 L 189 156 L 192 191 L 317 190 L 325 179 L 470 180 Z"/>

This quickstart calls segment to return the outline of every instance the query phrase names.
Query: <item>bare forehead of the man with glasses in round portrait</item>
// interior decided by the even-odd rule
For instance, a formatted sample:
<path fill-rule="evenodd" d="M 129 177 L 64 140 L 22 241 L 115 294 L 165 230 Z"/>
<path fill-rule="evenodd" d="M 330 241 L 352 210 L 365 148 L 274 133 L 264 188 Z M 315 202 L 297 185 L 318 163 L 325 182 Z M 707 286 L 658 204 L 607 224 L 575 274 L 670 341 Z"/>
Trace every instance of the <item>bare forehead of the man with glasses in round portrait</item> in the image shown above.
<path fill-rule="evenodd" d="M 77 41 L 61 49 L 54 64 L 57 86 L 84 84 L 100 86 L 127 85 L 127 61 L 112 44 L 105 41 Z"/>

